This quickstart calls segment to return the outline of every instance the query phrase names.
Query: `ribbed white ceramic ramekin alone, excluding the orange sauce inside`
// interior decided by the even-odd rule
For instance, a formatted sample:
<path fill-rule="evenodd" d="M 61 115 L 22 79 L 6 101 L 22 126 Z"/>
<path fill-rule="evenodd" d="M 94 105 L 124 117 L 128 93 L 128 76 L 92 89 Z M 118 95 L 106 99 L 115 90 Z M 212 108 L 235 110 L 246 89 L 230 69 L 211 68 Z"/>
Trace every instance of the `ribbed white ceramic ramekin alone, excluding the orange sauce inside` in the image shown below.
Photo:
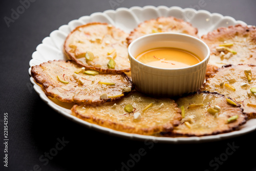
<path fill-rule="evenodd" d="M 136 57 L 154 48 L 178 48 L 196 54 L 196 65 L 164 69 L 145 65 Z M 132 79 L 138 91 L 154 96 L 178 96 L 200 89 L 210 56 L 208 46 L 200 39 L 180 33 L 154 33 L 134 40 L 128 48 Z"/>

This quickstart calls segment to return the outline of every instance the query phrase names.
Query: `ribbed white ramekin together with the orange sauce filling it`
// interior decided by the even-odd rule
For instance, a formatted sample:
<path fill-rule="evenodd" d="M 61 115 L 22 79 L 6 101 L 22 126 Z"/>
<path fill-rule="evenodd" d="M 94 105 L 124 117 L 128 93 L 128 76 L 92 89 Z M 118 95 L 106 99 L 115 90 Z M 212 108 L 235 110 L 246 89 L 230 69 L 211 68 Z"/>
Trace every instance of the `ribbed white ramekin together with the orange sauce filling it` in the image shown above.
<path fill-rule="evenodd" d="M 210 50 L 202 40 L 190 35 L 154 33 L 134 40 L 128 54 L 138 91 L 172 97 L 200 89 Z"/>

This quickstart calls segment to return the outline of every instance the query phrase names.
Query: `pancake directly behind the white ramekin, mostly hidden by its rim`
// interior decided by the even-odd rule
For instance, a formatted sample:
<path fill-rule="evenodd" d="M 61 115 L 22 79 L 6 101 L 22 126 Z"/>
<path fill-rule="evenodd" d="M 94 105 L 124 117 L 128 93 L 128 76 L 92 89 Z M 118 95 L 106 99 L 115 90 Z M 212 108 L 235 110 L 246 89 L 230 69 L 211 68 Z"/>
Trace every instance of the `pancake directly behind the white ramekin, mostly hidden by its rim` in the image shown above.
<path fill-rule="evenodd" d="M 146 20 L 139 24 L 139 26 L 130 33 L 130 36 L 127 37 L 128 44 L 131 44 L 131 42 L 138 37 L 158 32 L 184 33 L 197 37 L 198 30 L 190 23 L 173 16 L 158 17 L 157 19 Z"/>

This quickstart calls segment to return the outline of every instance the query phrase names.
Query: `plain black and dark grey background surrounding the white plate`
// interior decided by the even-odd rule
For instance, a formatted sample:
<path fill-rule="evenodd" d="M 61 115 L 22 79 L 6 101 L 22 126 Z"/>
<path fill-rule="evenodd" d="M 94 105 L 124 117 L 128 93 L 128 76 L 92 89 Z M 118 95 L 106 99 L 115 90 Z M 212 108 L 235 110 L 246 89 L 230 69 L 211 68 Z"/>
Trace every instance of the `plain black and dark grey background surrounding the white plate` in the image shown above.
<path fill-rule="evenodd" d="M 199 0 L 124 0 L 118 7 L 165 5 L 197 9 L 198 3 Z M 201 8 L 203 10 L 256 25 L 254 0 L 205 0 L 205 3 L 206 6 Z M 200 144 L 146 145 L 143 141 L 87 129 L 53 111 L 31 87 L 28 69 L 32 53 L 44 37 L 61 25 L 112 7 L 109 0 L 37 0 L 8 28 L 3 18 L 10 17 L 11 9 L 18 6 L 19 1 L 0 1 L 0 170 L 121 170 L 122 162 L 129 162 L 130 154 L 138 153 L 140 148 L 144 148 L 143 154 L 146 154 L 130 170 L 256 170 L 256 132 Z M 8 113 L 8 168 L 3 163 L 4 113 Z M 49 163 L 41 162 L 39 157 L 54 148 L 57 138 L 62 137 L 69 141 L 66 146 Z M 210 166 L 211 160 L 220 156 L 225 158 L 228 144 L 239 147 L 223 163 L 219 163 L 218 168 L 217 164 Z"/>

